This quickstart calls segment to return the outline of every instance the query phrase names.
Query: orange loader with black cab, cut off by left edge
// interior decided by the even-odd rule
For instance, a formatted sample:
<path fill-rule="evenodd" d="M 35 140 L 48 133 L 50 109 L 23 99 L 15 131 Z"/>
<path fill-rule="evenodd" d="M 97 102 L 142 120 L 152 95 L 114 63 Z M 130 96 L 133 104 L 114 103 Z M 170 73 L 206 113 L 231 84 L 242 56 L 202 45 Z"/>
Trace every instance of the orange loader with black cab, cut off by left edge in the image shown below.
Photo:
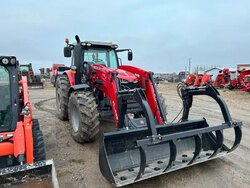
<path fill-rule="evenodd" d="M 22 183 L 56 188 L 53 161 L 45 160 L 43 134 L 32 118 L 27 78 L 19 80 L 18 69 L 16 57 L 0 56 L 0 187 Z M 26 184 L 29 180 L 33 184 Z"/>

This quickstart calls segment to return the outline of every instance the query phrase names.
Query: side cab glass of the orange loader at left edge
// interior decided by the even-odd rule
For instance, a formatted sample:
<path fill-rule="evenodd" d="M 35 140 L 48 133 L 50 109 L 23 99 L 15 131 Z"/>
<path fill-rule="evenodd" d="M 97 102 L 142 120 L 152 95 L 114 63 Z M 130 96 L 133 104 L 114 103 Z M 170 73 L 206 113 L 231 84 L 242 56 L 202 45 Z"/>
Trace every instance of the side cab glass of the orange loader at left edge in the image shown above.
<path fill-rule="evenodd" d="M 11 123 L 10 75 L 0 65 L 0 130 L 8 128 Z"/>

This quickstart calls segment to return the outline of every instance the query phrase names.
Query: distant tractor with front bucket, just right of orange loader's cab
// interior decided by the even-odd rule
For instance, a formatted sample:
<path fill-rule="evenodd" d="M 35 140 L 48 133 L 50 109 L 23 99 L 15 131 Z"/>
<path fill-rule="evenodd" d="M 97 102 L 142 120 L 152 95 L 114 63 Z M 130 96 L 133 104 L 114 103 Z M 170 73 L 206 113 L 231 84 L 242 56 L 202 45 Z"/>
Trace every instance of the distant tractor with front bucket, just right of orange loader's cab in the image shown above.
<path fill-rule="evenodd" d="M 29 88 L 41 88 L 43 89 L 43 83 L 40 75 L 35 75 L 32 69 L 32 64 L 20 64 L 19 66 L 19 77 L 27 77 Z"/>

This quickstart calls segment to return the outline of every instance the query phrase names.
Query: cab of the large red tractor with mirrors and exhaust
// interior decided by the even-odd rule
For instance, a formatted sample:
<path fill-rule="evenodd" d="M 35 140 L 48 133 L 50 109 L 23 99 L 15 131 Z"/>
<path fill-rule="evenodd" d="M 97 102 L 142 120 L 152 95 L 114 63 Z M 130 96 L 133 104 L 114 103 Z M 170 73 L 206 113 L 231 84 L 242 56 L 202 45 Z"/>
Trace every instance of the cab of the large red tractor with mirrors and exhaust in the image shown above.
<path fill-rule="evenodd" d="M 89 77 L 89 65 L 97 64 L 111 69 L 118 69 L 121 64 L 121 59 L 118 57 L 119 52 L 128 51 L 128 61 L 133 59 L 133 53 L 131 49 L 117 49 L 118 45 L 109 42 L 95 42 L 95 41 L 80 41 L 76 36 L 76 43 L 69 44 L 69 40 L 66 38 L 67 44 L 64 47 L 64 56 L 71 57 L 73 51 L 71 70 L 76 73 L 75 83 L 80 84 L 82 82 L 81 75 Z"/>

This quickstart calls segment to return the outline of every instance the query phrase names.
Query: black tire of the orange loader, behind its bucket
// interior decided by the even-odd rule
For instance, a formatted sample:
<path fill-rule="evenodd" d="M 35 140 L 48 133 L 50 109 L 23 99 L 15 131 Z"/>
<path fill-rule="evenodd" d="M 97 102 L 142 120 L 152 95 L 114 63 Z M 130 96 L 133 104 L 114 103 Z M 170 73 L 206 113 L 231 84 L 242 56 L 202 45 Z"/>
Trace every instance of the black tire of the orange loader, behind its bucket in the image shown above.
<path fill-rule="evenodd" d="M 33 120 L 32 135 L 33 135 L 33 147 L 34 147 L 33 155 L 35 162 L 46 159 L 43 133 L 40 129 L 37 129 L 37 127 L 39 127 L 38 120 L 35 121 Z"/>

